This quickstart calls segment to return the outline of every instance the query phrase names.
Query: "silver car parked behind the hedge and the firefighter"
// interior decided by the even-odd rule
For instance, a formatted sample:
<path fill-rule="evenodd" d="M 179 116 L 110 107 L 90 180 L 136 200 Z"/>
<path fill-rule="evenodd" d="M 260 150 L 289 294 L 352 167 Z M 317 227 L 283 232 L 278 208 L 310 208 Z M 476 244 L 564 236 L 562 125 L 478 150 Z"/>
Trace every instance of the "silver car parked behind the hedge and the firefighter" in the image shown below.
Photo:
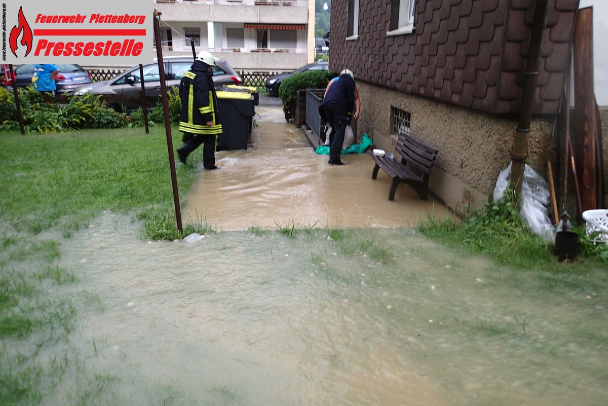
<path fill-rule="evenodd" d="M 167 89 L 170 89 L 173 86 L 179 86 L 179 82 L 182 80 L 184 72 L 190 70 L 194 60 L 192 57 L 165 57 L 163 58 L 163 62 L 165 69 L 165 86 L 167 86 Z M 215 64 L 216 66 L 213 66 L 212 70 L 213 83 L 216 86 L 226 84 L 241 84 L 241 77 L 232 68 L 232 66 L 227 63 L 226 60 L 216 58 Z M 143 84 L 145 87 L 146 96 L 161 95 L 161 75 L 159 73 L 157 63 L 143 65 Z M 110 80 L 94 82 L 86 86 L 81 86 L 80 88 L 76 89 L 75 94 L 93 93 L 139 96 L 141 89 L 142 87 L 138 65 Z M 122 105 L 120 103 L 109 104 L 117 111 L 122 109 Z M 140 107 L 140 103 L 135 102 L 123 104 L 127 111 Z"/>

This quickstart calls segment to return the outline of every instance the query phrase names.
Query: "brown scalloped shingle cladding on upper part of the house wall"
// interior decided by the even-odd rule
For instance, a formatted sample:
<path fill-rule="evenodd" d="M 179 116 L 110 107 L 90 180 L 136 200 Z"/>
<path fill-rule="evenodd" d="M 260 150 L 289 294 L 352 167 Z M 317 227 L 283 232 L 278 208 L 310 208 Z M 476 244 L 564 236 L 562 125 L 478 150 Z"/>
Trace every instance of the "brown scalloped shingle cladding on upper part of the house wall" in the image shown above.
<path fill-rule="evenodd" d="M 344 41 L 348 1 L 333 1 L 333 69 L 486 112 L 519 112 L 535 0 L 418 0 L 415 32 L 387 36 L 392 1 L 360 1 L 353 41 Z M 578 3 L 550 0 L 534 114 L 558 112 Z"/>

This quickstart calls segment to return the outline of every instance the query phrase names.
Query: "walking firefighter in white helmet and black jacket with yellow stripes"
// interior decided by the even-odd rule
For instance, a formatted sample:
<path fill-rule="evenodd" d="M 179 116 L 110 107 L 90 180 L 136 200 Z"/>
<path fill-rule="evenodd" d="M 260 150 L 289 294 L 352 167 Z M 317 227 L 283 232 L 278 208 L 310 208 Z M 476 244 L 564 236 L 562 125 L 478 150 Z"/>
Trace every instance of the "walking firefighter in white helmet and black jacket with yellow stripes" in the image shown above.
<path fill-rule="evenodd" d="M 212 66 L 215 58 L 210 52 L 202 51 L 179 83 L 182 102 L 179 131 L 184 132 L 184 145 L 178 148 L 179 160 L 186 163 L 188 154 L 202 143 L 202 165 L 207 170 L 219 169 L 215 166 L 215 137 L 222 133 Z"/>

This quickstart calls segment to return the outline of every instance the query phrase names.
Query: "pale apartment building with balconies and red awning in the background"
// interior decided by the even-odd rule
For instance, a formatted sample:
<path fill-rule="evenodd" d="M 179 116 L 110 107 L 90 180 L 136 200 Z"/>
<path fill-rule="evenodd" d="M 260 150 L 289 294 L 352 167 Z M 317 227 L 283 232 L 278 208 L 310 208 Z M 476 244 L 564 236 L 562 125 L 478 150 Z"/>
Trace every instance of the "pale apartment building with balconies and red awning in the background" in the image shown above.
<path fill-rule="evenodd" d="M 313 0 L 156 0 L 163 55 L 209 50 L 238 70 L 291 71 L 314 60 Z M 309 12 L 313 10 L 313 12 Z"/>

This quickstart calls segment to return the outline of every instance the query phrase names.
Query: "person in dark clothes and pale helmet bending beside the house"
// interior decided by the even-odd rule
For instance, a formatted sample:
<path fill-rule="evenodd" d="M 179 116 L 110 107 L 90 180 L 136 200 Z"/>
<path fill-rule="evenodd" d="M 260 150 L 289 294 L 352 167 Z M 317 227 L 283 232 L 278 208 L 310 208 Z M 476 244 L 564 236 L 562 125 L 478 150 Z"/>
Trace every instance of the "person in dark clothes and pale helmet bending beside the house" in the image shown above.
<path fill-rule="evenodd" d="M 330 165 L 343 165 L 340 160 L 344 134 L 352 119 L 359 117 L 361 99 L 354 83 L 354 74 L 348 69 L 340 72 L 340 76 L 330 80 L 325 88 L 323 101 L 319 106 L 319 114 L 331 126 L 330 136 Z M 353 112 L 354 111 L 354 112 Z"/>

